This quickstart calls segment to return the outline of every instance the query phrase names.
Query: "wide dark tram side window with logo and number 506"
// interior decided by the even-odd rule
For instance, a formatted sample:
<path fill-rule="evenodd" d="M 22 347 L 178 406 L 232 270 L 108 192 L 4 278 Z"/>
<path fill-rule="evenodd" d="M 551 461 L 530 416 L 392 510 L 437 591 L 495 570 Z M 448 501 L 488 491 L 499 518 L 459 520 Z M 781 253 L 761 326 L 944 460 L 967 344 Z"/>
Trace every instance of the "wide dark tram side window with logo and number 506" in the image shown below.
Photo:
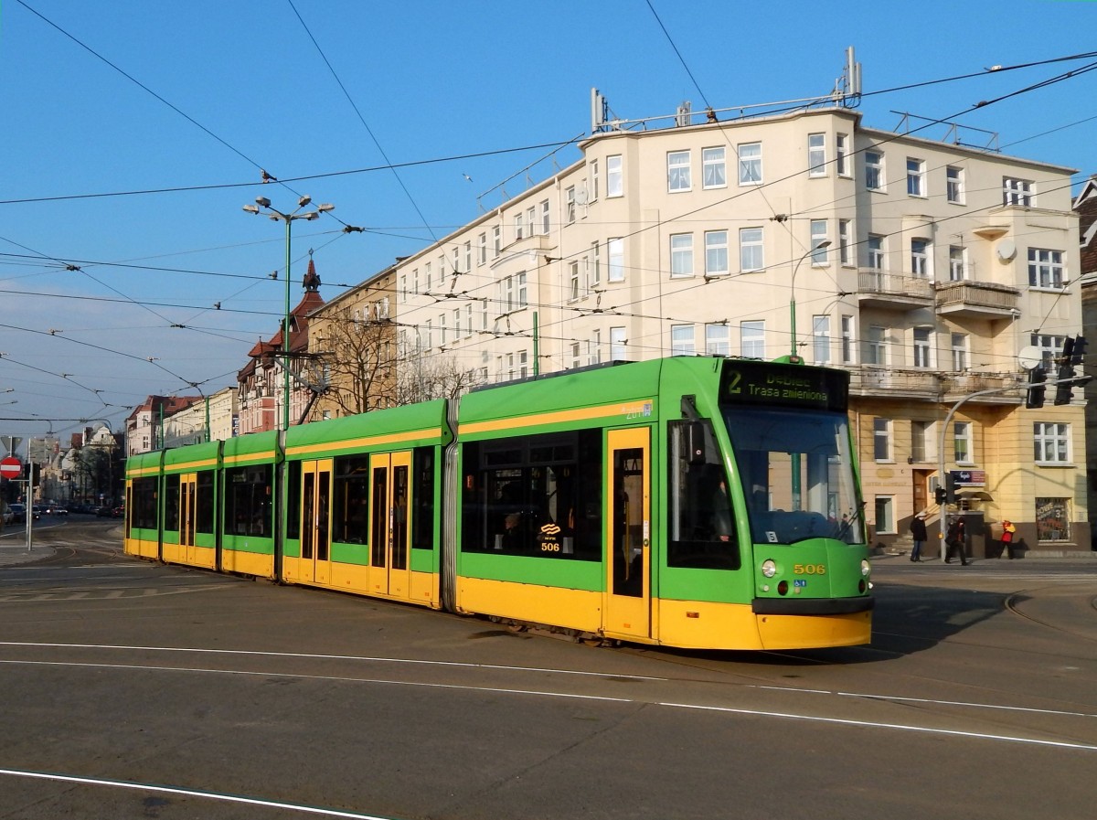
<path fill-rule="evenodd" d="M 465 444 L 462 549 L 602 559 L 602 431 Z"/>

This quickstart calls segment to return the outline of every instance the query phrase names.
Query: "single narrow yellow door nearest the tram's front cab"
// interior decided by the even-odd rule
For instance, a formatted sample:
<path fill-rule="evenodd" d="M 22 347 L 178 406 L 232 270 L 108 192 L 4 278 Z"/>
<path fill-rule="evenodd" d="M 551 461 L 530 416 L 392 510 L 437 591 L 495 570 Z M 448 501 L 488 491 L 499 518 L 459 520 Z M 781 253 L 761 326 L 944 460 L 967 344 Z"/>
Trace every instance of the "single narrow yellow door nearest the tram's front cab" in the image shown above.
<path fill-rule="evenodd" d="M 651 432 L 609 431 L 607 633 L 638 638 L 652 630 Z"/>

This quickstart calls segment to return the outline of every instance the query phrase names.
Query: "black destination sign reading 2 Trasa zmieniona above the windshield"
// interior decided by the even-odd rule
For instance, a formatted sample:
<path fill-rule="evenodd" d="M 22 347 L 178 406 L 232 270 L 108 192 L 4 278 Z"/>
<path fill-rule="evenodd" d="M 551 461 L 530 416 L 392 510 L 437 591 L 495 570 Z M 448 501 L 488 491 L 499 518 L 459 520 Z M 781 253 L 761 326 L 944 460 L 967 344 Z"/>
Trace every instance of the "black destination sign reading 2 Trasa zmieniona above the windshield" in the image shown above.
<path fill-rule="evenodd" d="M 845 412 L 849 374 L 828 367 L 730 360 L 721 375 L 720 400 Z"/>

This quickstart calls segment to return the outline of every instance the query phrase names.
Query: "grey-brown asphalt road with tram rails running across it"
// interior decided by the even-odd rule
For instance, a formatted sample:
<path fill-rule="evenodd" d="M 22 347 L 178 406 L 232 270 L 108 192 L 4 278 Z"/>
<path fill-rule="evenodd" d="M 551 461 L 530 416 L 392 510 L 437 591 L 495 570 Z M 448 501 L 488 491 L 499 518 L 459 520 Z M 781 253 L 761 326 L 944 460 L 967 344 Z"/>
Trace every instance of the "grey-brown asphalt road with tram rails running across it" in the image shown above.
<path fill-rule="evenodd" d="M 0 539 L 3 820 L 1094 815 L 1095 560 L 880 558 L 870 647 L 698 653 L 135 561 L 117 522 L 53 523 L 31 556 Z"/>

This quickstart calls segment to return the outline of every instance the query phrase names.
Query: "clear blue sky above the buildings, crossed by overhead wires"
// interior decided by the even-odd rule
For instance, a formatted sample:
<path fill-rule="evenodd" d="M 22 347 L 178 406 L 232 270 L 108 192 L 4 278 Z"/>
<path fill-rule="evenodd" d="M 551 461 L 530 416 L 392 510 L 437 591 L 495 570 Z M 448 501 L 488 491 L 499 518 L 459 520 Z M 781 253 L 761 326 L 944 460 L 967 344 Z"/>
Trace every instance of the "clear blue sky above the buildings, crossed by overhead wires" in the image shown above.
<path fill-rule="evenodd" d="M 0 0 L 0 435 L 235 384 L 285 298 L 257 196 L 336 206 L 291 243 L 293 304 L 310 251 L 330 299 L 576 161 L 591 88 L 622 118 L 823 96 L 853 46 L 862 125 L 1077 187 L 1094 31 L 1081 0 Z"/>

